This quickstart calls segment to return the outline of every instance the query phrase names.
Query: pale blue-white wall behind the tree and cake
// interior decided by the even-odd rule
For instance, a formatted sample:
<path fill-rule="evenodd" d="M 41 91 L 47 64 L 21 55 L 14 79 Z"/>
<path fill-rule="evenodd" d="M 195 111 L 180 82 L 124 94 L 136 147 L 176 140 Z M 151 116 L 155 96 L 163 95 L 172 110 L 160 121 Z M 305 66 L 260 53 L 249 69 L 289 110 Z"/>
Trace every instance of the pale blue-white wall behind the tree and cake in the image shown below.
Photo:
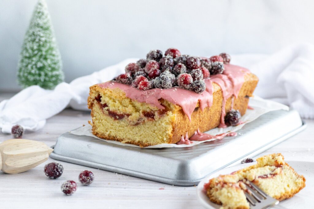
<path fill-rule="evenodd" d="M 0 91 L 16 69 L 36 0 L 0 0 Z M 150 49 L 183 54 L 272 53 L 314 43 L 314 1 L 47 0 L 66 81 Z"/>

